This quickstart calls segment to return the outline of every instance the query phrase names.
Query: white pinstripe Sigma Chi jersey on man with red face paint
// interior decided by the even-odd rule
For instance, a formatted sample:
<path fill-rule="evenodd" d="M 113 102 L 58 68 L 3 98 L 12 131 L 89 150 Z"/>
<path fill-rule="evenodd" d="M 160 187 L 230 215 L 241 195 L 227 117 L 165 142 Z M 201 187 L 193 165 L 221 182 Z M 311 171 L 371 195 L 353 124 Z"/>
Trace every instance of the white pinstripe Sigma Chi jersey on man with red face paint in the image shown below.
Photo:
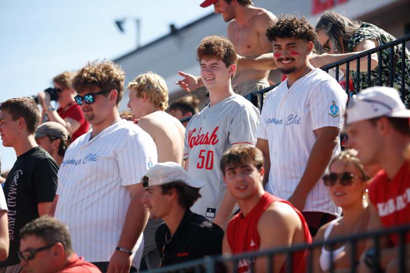
<path fill-rule="evenodd" d="M 270 193 L 283 199 L 293 194 L 316 141 L 314 130 L 342 130 L 346 101 L 347 95 L 339 83 L 318 68 L 290 89 L 285 80 L 268 94 L 255 136 L 269 142 Z M 334 148 L 333 156 L 338 153 L 340 144 Z M 308 194 L 303 211 L 340 215 L 340 208 L 333 204 L 321 179 Z"/>

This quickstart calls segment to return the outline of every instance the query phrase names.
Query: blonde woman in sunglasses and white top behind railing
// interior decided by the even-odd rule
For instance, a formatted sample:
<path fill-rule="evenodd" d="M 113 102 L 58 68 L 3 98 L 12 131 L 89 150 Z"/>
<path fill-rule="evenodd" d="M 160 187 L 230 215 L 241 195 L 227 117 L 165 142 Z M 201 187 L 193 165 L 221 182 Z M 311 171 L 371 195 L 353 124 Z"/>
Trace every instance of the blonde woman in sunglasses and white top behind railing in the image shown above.
<path fill-rule="evenodd" d="M 353 235 L 364 232 L 369 219 L 367 199 L 364 198 L 368 185 L 368 178 L 363 171 L 363 166 L 356 157 L 357 151 L 350 149 L 341 152 L 330 164 L 330 174 L 323 176 L 323 182 L 329 190 L 333 202 L 343 210 L 343 216 L 323 225 L 315 241 Z M 327 272 L 331 268 L 331 255 L 333 269 L 351 268 L 349 248 L 350 244 L 335 244 L 331 253 L 329 245 L 314 249 L 315 272 Z M 364 241 L 357 243 L 356 262 L 364 250 Z"/>

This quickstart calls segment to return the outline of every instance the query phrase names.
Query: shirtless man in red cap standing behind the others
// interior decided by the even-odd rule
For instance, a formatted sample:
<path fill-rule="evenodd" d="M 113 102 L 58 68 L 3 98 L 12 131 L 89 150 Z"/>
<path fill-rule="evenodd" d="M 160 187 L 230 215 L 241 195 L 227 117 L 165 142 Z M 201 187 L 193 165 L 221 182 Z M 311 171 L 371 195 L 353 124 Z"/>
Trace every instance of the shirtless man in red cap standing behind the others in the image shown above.
<path fill-rule="evenodd" d="M 214 5 L 228 25 L 228 39 L 238 53 L 238 67 L 232 79 L 235 93 L 247 95 L 270 86 L 268 76 L 276 69 L 272 44 L 265 37 L 268 26 L 276 16 L 253 6 L 252 0 L 206 0 L 200 6 Z M 176 82 L 186 91 L 204 86 L 200 76 L 178 72 L 183 77 Z"/>

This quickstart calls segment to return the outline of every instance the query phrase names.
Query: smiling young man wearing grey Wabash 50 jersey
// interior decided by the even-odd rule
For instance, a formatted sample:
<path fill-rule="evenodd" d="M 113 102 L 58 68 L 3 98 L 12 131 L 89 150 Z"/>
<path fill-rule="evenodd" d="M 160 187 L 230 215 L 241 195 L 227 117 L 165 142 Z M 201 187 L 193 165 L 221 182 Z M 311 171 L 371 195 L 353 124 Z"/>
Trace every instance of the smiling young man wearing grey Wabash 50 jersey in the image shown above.
<path fill-rule="evenodd" d="M 206 185 L 192 211 L 223 226 L 232 215 L 235 200 L 226 191 L 217 164 L 231 145 L 255 145 L 254 133 L 259 111 L 232 90 L 231 77 L 237 55 L 232 43 L 223 37 L 203 38 L 197 48 L 201 78 L 209 90 L 210 103 L 193 116 L 185 132 L 185 169 Z"/>

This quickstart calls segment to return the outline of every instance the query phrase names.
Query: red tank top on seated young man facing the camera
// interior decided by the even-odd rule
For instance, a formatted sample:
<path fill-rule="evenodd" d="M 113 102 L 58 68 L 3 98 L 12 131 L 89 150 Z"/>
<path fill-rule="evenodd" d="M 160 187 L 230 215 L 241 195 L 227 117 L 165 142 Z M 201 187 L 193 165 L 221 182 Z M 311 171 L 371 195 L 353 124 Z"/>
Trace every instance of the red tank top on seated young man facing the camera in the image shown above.
<path fill-rule="evenodd" d="M 290 205 L 300 218 L 304 230 L 304 241 L 312 243 L 312 237 L 309 232 L 309 227 L 304 220 L 303 215 L 291 203 L 279 197 L 273 196 L 265 192 L 259 202 L 252 211 L 245 217 L 242 212 L 237 214 L 228 224 L 227 238 L 231 247 L 232 254 L 240 254 L 249 251 L 257 251 L 260 247 L 260 237 L 258 233 L 258 222 L 262 213 L 273 203 L 283 202 Z M 279 235 L 278 235 L 279 236 Z M 293 272 L 306 271 L 306 256 L 308 250 L 300 250 L 292 255 Z M 250 266 L 253 261 L 249 259 L 241 259 L 238 262 L 238 272 L 250 272 Z M 283 265 L 280 272 L 285 272 L 286 266 Z"/>

